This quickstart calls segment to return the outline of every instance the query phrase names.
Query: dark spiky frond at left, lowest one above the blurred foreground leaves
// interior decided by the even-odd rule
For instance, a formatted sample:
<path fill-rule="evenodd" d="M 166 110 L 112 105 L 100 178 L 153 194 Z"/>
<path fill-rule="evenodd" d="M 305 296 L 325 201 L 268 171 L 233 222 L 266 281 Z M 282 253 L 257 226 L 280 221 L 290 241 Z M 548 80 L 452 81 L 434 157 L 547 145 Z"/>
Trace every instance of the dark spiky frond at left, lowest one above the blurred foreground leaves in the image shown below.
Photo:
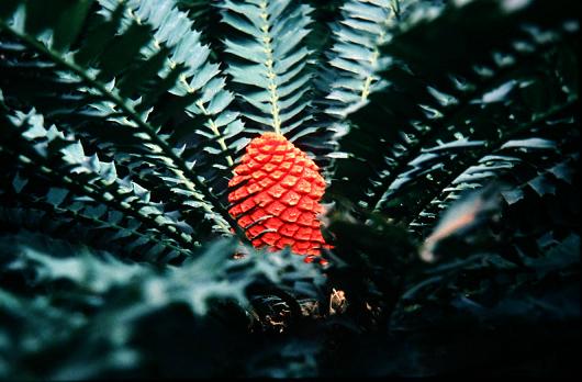
<path fill-rule="evenodd" d="M 0 151 L 4 162 L 15 164 L 2 175 L 5 190 L 13 188 L 1 193 L 5 206 L 63 216 L 61 223 L 69 226 L 58 227 L 64 232 L 82 231 L 75 226 L 80 220 L 89 233 L 102 234 L 98 240 L 117 245 L 121 251 L 132 252 L 139 244 L 150 261 L 190 256 L 189 248 L 198 245 L 179 211 L 166 211 L 163 203 L 152 201 L 150 191 L 130 177 L 120 178 L 114 161 L 101 161 L 97 153 L 87 156 L 72 134 L 55 125 L 46 128 L 34 110 L 2 123 L 7 131 Z M 53 223 L 58 225 L 58 218 Z"/>

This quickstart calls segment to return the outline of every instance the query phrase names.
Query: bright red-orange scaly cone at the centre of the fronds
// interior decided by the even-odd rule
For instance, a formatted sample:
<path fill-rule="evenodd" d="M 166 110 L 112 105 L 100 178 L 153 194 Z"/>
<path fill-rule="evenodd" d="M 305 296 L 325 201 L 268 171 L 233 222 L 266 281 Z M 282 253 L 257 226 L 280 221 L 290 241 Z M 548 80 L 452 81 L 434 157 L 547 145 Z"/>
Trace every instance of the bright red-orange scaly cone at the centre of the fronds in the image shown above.
<path fill-rule="evenodd" d="M 280 134 L 265 133 L 247 146 L 228 182 L 228 211 L 255 247 L 291 247 L 298 255 L 321 255 L 326 245 L 317 215 L 325 180 L 305 153 Z M 244 183 L 243 183 L 244 182 Z M 237 187 L 238 186 L 238 187 Z"/>

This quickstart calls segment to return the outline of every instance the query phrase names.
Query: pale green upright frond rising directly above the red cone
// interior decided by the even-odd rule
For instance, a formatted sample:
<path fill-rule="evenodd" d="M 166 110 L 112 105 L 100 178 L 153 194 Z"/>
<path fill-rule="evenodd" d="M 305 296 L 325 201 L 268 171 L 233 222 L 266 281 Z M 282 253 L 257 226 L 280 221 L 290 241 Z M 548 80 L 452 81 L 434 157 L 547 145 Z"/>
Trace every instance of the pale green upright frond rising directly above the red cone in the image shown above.
<path fill-rule="evenodd" d="M 223 22 L 240 37 L 224 40 L 233 59 L 227 72 L 239 85 L 242 113 L 255 132 L 272 130 L 293 139 L 310 123 L 310 50 L 302 42 L 312 22 L 307 5 L 291 1 L 225 1 Z"/>

